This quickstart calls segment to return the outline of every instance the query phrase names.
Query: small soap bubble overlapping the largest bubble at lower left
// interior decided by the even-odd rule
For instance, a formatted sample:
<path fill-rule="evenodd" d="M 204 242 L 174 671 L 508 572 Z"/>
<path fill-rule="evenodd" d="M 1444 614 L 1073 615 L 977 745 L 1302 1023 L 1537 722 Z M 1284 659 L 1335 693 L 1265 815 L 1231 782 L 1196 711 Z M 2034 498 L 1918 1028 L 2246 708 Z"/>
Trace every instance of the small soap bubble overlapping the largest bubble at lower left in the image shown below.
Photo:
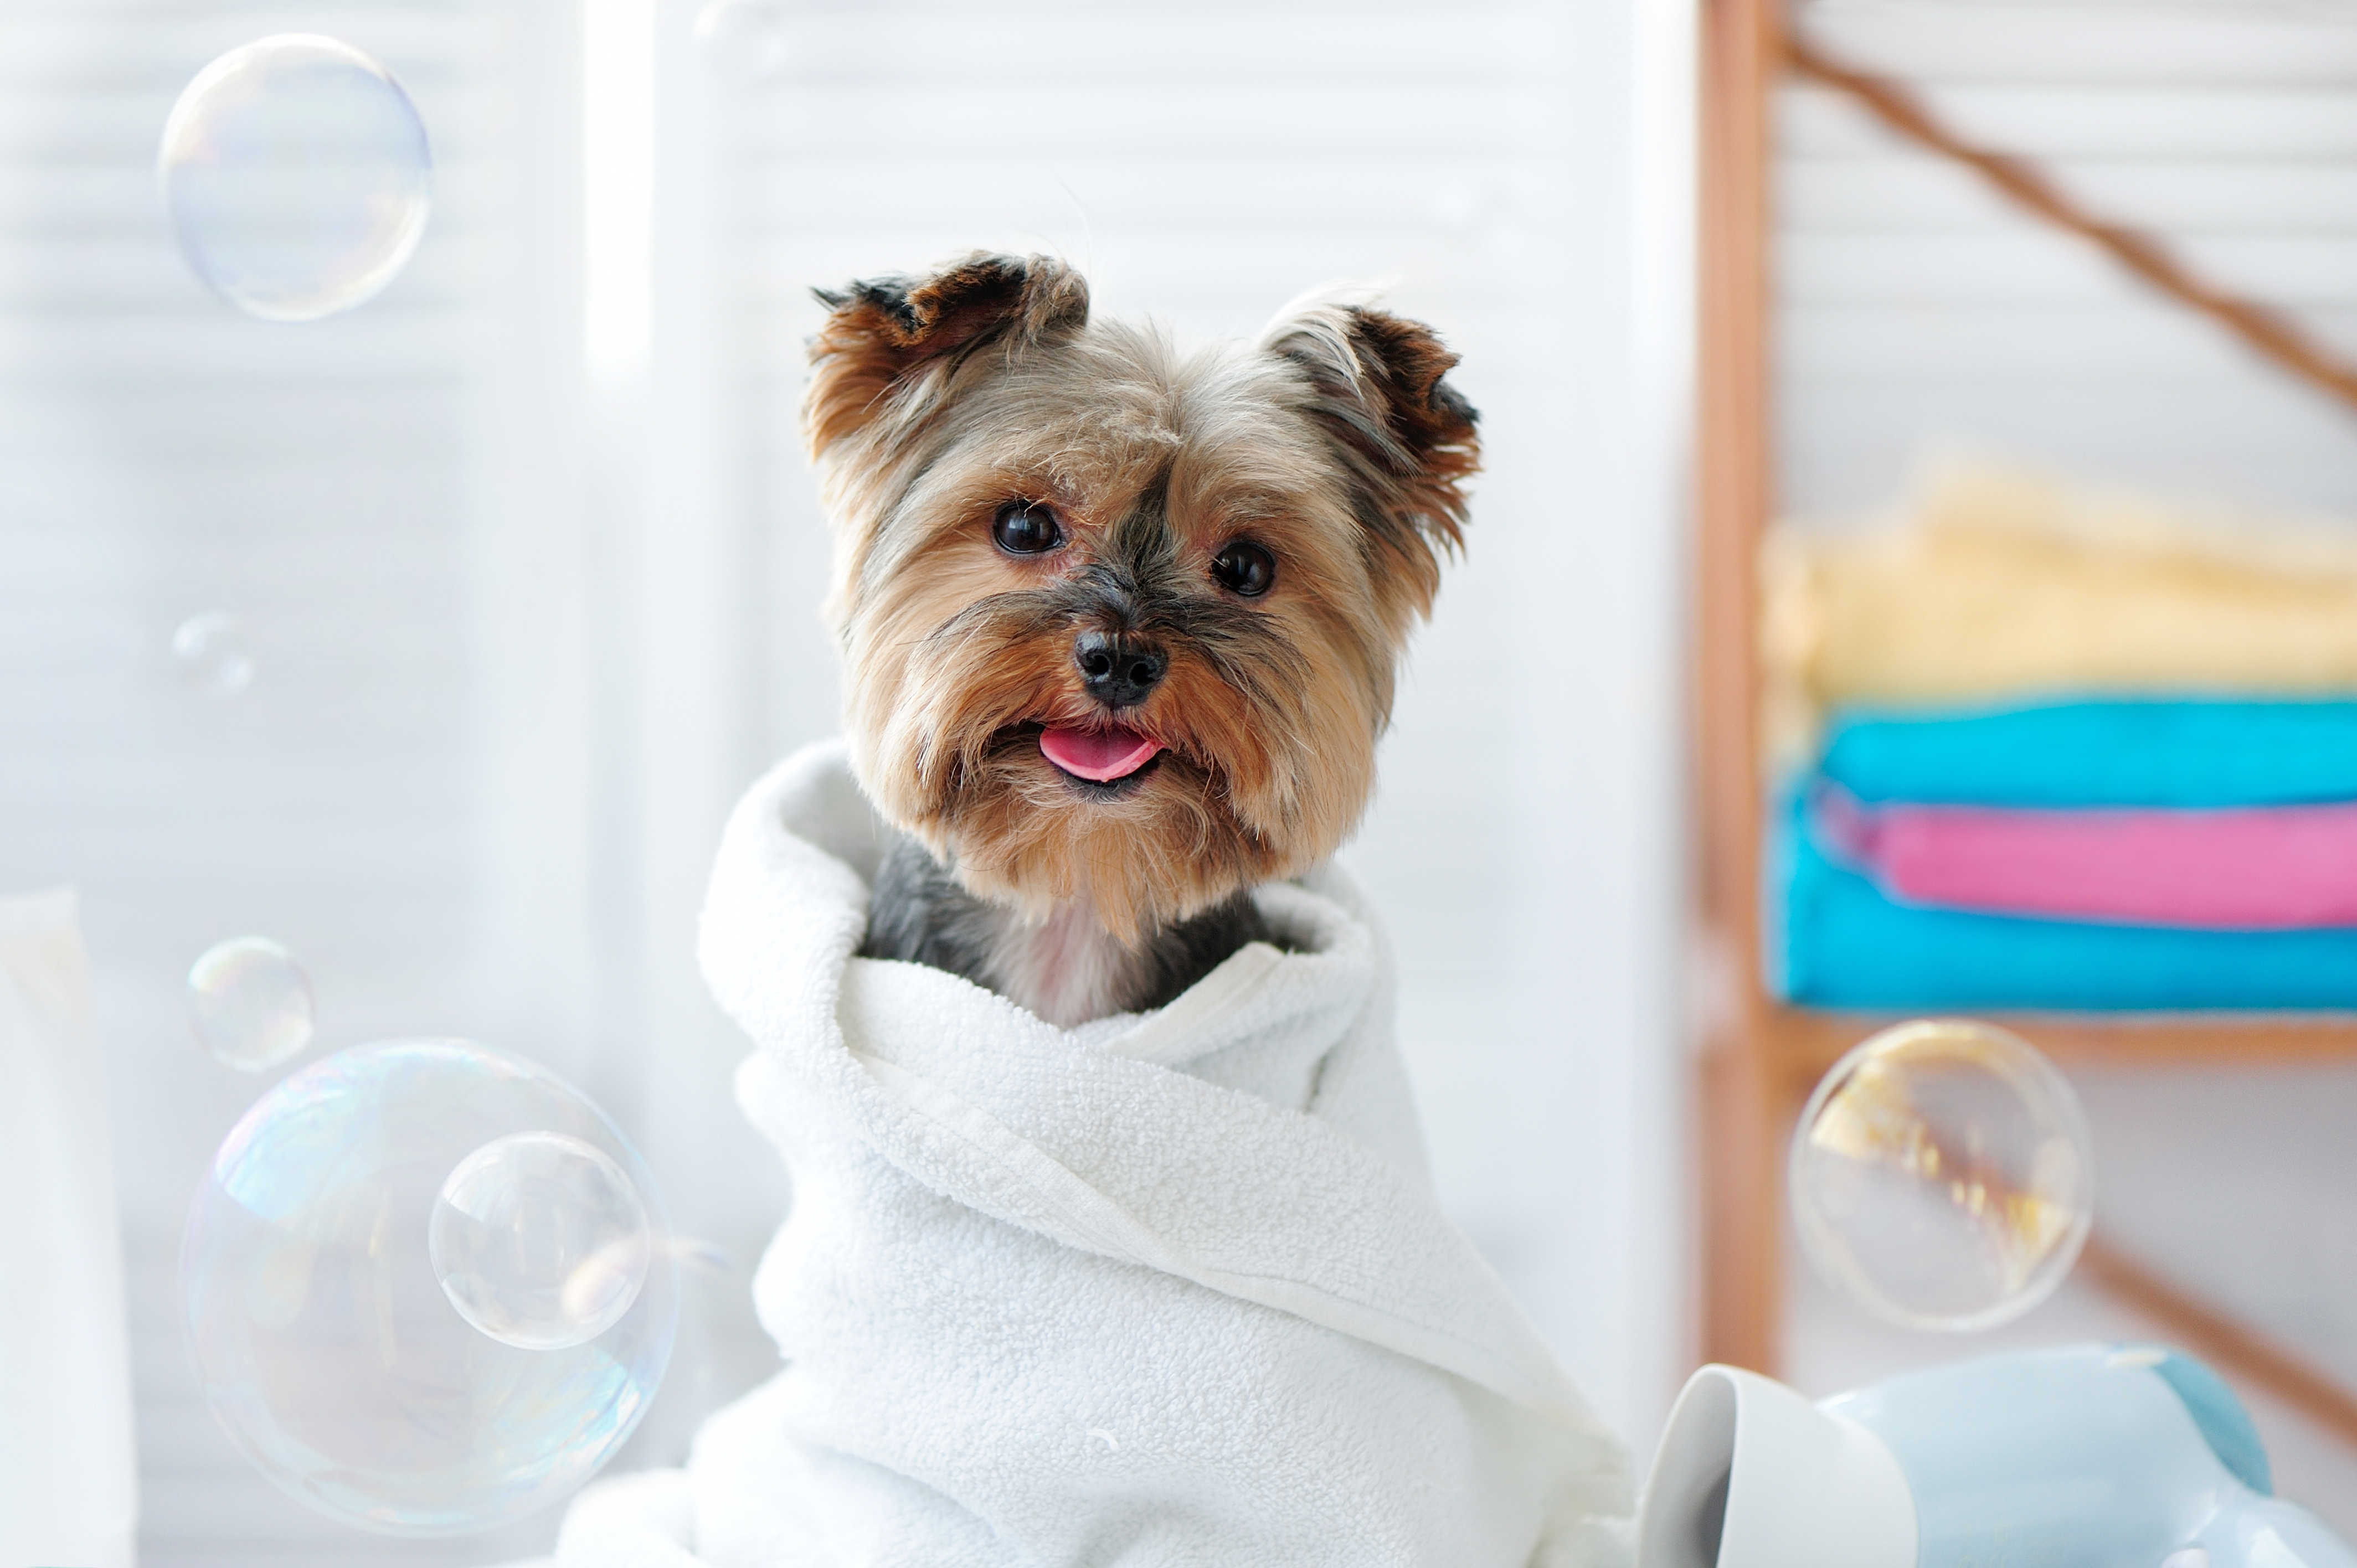
<path fill-rule="evenodd" d="M 467 1323 L 500 1344 L 561 1351 L 629 1311 L 653 1238 L 620 1165 L 561 1132 L 519 1132 L 450 1172 L 427 1252 Z"/>

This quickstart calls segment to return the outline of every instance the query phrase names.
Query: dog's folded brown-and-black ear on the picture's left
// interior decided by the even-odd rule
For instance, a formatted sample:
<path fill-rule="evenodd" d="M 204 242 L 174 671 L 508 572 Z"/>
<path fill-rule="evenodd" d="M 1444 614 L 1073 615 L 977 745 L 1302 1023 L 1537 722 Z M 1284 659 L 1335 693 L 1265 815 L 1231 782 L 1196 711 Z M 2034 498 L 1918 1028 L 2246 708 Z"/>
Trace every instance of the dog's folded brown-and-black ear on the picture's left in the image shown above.
<path fill-rule="evenodd" d="M 988 342 L 1037 342 L 1089 323 L 1089 283 L 1049 257 L 976 250 L 924 278 L 811 290 L 827 323 L 811 340 L 801 406 L 811 453 L 856 434 L 915 373 Z"/>

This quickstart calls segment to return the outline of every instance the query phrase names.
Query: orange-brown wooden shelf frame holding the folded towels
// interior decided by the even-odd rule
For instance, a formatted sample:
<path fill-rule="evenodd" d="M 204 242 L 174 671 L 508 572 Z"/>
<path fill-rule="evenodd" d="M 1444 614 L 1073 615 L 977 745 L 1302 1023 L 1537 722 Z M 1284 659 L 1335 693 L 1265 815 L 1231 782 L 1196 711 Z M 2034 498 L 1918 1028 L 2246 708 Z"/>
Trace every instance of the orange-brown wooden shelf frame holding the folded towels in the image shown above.
<path fill-rule="evenodd" d="M 1761 689 L 1756 556 L 1777 493 L 1770 441 L 1770 97 L 1784 64 L 1777 0 L 1702 0 L 1692 582 L 1699 854 L 1692 896 L 1704 950 L 1714 960 L 1709 969 L 1723 976 L 1716 988 L 1723 1004 L 1702 1030 L 1697 1073 L 1699 1320 L 1704 1358 L 1761 1372 L 1775 1372 L 1780 1344 L 1784 1144 L 1794 1118 L 1817 1078 L 1846 1049 L 1900 1021 L 1895 1014 L 1787 1007 L 1768 997 L 1761 974 L 1758 868 L 1765 802 L 1758 788 L 1754 707 Z M 1824 61 L 1813 68 L 1820 80 L 1827 78 Z M 1867 78 L 1853 87 L 1886 99 L 1886 118 L 1921 118 L 1895 87 Z M 2006 163 L 1996 174 L 2011 177 L 2015 186 L 2029 179 L 2027 165 Z M 2091 231 L 2086 222 L 2072 224 L 2067 212 L 2048 217 Z M 2093 241 L 2114 252 L 2135 248 L 2135 236 L 2126 231 L 2102 229 Z M 2154 266 L 2145 266 L 2145 276 L 2185 299 L 2185 290 L 2157 276 Z M 2246 337 L 2267 325 L 2258 321 L 2265 316 L 2258 307 L 2213 297 L 2216 290 L 2197 292 L 2204 297 L 2192 304 L 2213 316 L 2220 314 L 2213 309 L 2220 302 L 2232 307 L 2223 314 L 2237 316 L 2230 325 Z M 2308 365 L 2291 368 L 2312 373 Z M 2350 380 L 2357 384 L 2357 375 Z M 1996 1014 L 1989 1021 L 2013 1028 L 2062 1063 L 2084 1066 L 2357 1061 L 2357 1014 Z M 2176 1294 L 2166 1280 L 2138 1271 L 2133 1259 L 2091 1254 L 2091 1278 L 2107 1280 L 2159 1323 L 2178 1325 L 2178 1332 L 2237 1375 L 2289 1391 L 2303 1408 L 2322 1412 L 2319 1419 L 2331 1417 L 2333 1429 L 2357 1443 L 2357 1398 L 2298 1358 Z"/>

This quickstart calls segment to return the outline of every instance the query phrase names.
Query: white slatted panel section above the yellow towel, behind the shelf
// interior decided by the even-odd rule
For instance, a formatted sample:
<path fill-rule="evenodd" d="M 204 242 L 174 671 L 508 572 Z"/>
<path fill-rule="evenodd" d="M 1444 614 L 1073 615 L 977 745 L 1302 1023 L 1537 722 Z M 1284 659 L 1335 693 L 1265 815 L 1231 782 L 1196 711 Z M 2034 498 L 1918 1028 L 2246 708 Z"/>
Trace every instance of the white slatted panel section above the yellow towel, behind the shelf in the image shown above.
<path fill-rule="evenodd" d="M 2357 7 L 1820 2 L 1803 26 L 2357 356 Z M 1857 512 L 1926 443 L 2357 516 L 2357 413 L 1838 94 L 1780 94 L 1784 502 Z"/>

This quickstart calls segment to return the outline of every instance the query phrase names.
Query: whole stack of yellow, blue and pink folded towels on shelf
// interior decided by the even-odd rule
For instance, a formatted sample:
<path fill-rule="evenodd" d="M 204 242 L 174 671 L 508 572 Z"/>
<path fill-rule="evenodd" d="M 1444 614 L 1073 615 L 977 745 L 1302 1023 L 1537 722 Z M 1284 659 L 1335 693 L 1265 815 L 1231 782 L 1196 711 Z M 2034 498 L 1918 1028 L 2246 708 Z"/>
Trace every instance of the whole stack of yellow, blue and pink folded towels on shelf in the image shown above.
<path fill-rule="evenodd" d="M 1789 1000 L 2357 1007 L 2357 531 L 1945 465 L 1763 568 Z"/>

